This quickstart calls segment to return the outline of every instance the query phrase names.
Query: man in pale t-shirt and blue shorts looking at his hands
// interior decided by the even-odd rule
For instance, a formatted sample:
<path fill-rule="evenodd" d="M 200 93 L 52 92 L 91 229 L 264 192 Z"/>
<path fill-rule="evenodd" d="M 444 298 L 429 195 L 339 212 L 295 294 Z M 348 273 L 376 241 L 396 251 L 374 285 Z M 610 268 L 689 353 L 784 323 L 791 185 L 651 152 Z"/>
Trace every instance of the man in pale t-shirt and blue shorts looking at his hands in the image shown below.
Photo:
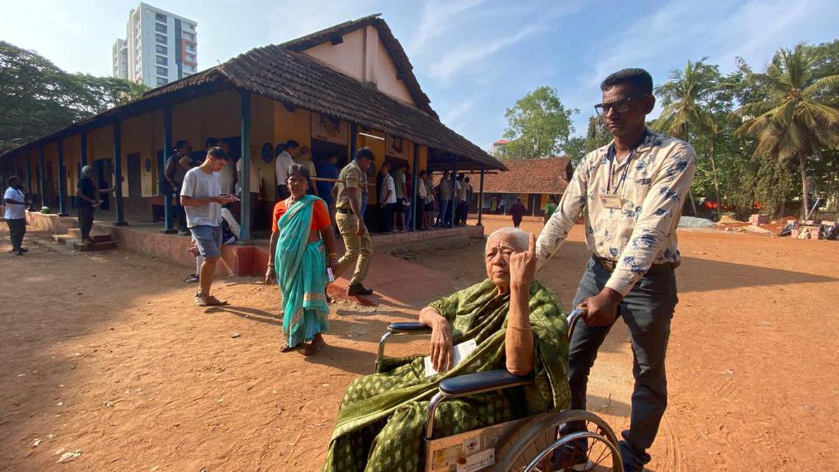
<path fill-rule="evenodd" d="M 221 195 L 218 172 L 228 160 L 230 158 L 224 149 L 209 149 L 204 162 L 186 172 L 180 190 L 180 202 L 186 210 L 186 226 L 190 228 L 198 252 L 204 257 L 199 274 L 201 289 L 195 294 L 195 305 L 199 307 L 227 305 L 227 302 L 210 295 L 210 286 L 216 273 L 216 261 L 221 256 L 221 205 L 238 200 L 232 195 Z"/>

